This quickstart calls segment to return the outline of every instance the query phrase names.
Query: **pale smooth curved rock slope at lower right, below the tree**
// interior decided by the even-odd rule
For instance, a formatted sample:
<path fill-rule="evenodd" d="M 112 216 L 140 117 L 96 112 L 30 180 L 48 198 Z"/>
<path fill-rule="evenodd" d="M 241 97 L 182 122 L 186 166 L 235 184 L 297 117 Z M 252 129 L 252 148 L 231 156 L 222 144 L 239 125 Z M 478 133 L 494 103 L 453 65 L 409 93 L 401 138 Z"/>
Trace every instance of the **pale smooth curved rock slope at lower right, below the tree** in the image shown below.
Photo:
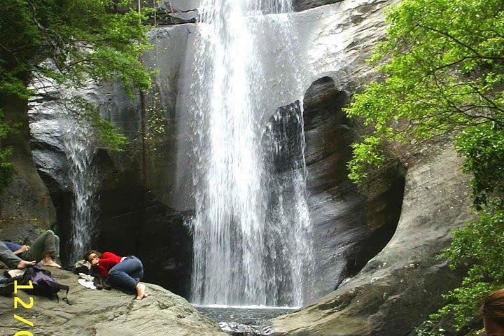
<path fill-rule="evenodd" d="M 353 278 L 318 303 L 274 320 L 274 335 L 407 335 L 440 307 L 458 281 L 436 255 L 450 231 L 470 219 L 468 176 L 450 145 L 407 170 L 405 197 L 391 241 Z"/>

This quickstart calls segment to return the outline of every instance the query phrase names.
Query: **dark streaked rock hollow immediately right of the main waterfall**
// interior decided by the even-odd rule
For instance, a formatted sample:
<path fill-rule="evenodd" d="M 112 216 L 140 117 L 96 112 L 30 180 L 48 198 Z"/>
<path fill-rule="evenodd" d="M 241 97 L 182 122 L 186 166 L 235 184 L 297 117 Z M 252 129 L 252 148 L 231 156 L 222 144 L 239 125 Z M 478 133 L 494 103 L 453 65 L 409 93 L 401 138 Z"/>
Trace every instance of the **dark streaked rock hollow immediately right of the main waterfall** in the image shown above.
<path fill-rule="evenodd" d="M 334 80 L 315 80 L 304 95 L 307 191 L 314 227 L 313 299 L 339 286 L 388 243 L 402 205 L 404 177 L 397 163 L 380 175 L 370 193 L 349 181 L 347 162 L 358 139 L 342 108 L 348 95 Z"/>

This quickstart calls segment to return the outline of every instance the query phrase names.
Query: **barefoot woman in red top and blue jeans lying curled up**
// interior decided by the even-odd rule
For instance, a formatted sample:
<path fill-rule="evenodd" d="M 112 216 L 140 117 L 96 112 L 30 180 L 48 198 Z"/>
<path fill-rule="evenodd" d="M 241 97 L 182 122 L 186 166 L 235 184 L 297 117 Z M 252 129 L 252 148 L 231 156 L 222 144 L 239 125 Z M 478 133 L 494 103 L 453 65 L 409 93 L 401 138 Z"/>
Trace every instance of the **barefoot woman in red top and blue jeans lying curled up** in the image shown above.
<path fill-rule="evenodd" d="M 120 257 L 112 252 L 87 251 L 84 260 L 91 262 L 102 276 L 109 279 L 113 288 L 126 294 L 137 294 L 137 300 L 147 297 L 146 286 L 140 283 L 144 277 L 144 265 L 134 255 Z"/>

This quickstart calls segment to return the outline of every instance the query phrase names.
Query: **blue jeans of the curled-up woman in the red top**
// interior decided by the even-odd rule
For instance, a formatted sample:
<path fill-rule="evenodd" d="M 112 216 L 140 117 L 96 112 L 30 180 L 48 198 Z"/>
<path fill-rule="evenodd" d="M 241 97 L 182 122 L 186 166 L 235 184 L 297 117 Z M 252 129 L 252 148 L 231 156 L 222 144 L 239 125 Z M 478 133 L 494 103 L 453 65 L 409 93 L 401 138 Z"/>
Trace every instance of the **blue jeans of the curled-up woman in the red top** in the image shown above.
<path fill-rule="evenodd" d="M 128 255 L 109 271 L 109 281 L 113 288 L 126 294 L 137 293 L 137 283 L 144 277 L 144 265 L 139 258 Z"/>

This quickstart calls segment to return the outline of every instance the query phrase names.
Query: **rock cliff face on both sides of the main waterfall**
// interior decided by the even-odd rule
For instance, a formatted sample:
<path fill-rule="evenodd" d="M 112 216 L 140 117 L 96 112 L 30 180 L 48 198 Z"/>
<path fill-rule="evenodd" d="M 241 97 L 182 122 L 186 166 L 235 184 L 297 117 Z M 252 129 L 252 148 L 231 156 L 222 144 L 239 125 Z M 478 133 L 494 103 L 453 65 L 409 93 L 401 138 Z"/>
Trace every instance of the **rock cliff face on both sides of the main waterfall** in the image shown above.
<path fill-rule="evenodd" d="M 296 57 L 309 69 L 303 107 L 316 265 L 307 296 L 326 296 L 276 319 L 278 335 L 405 335 L 456 281 L 435 255 L 449 243 L 449 231 L 468 218 L 470 197 L 468 178 L 457 170 L 460 159 L 447 146 L 417 156 L 407 169 L 391 160 L 365 193 L 346 179 L 349 146 L 358 134 L 342 107 L 357 87 L 375 78 L 365 59 L 384 36 L 383 7 L 395 2 L 299 0 L 295 8 L 300 11 L 288 14 L 299 34 Z M 199 4 L 164 1 L 163 6 L 196 15 Z M 190 202 L 176 183 L 176 169 L 188 169 L 176 167 L 176 144 L 190 134 L 179 132 L 183 125 L 175 111 L 183 77 L 190 76 L 185 62 L 191 58 L 186 52 L 194 33 L 192 24 L 151 32 L 155 48 L 144 62 L 160 72 L 153 92 L 144 97 L 144 109 L 141 99 L 125 99 L 120 87 L 89 92 L 104 116 L 123 127 L 132 141 L 125 153 L 97 152 L 104 183 L 96 247 L 134 250 L 145 261 L 146 274 L 156 274 L 151 281 L 184 295 L 191 241 L 183 222 L 190 216 Z M 139 141 L 143 119 L 145 146 Z M 32 123 L 40 120 L 34 116 Z M 153 132 L 150 125 L 160 127 Z M 57 141 L 34 137 L 36 163 L 64 230 L 71 197 L 64 181 L 66 159 Z"/>

